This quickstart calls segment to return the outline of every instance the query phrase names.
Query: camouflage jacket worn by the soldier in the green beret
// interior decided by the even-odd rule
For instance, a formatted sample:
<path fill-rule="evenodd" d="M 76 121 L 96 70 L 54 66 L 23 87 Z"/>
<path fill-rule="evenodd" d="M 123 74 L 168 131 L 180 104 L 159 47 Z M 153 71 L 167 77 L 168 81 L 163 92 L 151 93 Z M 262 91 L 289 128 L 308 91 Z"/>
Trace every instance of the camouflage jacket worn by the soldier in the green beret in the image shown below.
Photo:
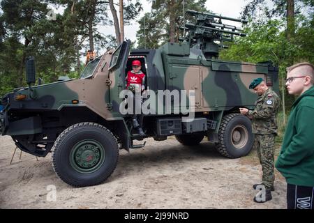
<path fill-rule="evenodd" d="M 257 98 L 255 109 L 248 112 L 248 116 L 252 118 L 254 134 L 277 134 L 276 116 L 280 104 L 280 98 L 271 89 Z"/>

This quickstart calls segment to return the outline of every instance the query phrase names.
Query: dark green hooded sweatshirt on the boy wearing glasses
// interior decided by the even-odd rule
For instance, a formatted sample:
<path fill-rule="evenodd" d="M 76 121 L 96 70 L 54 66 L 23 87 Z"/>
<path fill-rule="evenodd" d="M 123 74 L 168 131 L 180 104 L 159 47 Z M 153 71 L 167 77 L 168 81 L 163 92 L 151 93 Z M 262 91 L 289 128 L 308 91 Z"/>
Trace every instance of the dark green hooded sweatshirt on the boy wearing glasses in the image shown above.
<path fill-rule="evenodd" d="M 276 169 L 287 183 L 314 187 L 314 86 L 293 104 Z"/>

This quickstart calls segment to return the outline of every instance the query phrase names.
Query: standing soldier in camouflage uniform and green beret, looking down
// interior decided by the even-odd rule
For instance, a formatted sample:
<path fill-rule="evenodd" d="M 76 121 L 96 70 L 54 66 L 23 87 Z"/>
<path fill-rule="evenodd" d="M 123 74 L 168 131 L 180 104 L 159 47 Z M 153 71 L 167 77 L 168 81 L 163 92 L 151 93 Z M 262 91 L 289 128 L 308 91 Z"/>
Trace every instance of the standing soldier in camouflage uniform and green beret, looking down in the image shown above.
<path fill-rule="evenodd" d="M 257 156 L 262 165 L 263 173 L 262 183 L 253 185 L 253 188 L 256 190 L 259 185 L 266 187 L 264 199 L 257 199 L 257 197 L 260 197 L 259 192 L 254 197 L 254 201 L 262 203 L 271 200 L 271 191 L 274 191 L 274 149 L 277 134 L 276 116 L 280 106 L 280 98 L 274 91 L 267 87 L 262 78 L 254 79 L 249 88 L 254 89 L 258 95 L 255 102 L 255 109 L 248 110 L 240 108 L 240 112 L 252 119 L 252 128 L 257 145 Z"/>

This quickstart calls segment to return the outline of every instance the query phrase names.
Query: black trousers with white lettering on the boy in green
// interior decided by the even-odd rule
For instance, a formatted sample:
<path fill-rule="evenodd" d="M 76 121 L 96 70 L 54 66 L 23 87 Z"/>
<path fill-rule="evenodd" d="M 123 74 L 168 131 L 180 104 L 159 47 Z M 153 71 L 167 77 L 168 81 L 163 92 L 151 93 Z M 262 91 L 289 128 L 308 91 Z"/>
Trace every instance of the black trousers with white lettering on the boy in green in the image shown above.
<path fill-rule="evenodd" d="M 287 184 L 287 209 L 314 209 L 314 187 Z"/>

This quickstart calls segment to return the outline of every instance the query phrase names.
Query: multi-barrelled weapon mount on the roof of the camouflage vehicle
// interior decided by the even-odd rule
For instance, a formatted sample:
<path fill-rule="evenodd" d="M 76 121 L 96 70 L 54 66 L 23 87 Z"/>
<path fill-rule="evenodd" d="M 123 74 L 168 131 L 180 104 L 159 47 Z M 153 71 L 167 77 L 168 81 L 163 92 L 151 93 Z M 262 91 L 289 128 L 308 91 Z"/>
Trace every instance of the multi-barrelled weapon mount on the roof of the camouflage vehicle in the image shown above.
<path fill-rule="evenodd" d="M 187 10 L 187 15 L 196 17 L 195 24 L 186 23 L 180 26 L 188 34 L 181 41 L 188 41 L 190 47 L 201 49 L 206 59 L 218 57 L 219 48 L 227 48 L 223 42 L 232 42 L 235 36 L 246 36 L 246 33 L 237 26 L 223 24 L 222 20 L 230 20 L 247 24 L 246 20 L 234 19 L 232 17 L 223 17 L 212 13 L 202 13 L 195 10 Z"/>

